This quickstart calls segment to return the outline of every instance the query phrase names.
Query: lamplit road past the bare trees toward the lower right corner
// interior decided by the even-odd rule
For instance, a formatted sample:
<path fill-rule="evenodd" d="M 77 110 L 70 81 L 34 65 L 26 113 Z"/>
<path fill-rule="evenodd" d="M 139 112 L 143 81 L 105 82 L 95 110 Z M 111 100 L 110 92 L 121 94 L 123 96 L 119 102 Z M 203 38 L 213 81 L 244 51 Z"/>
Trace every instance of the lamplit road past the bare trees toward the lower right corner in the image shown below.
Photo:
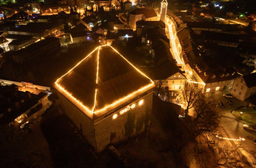
<path fill-rule="evenodd" d="M 242 143 L 241 147 L 239 148 L 240 151 L 244 154 L 250 157 L 250 160 L 255 160 L 256 158 L 256 145 L 253 144 L 253 140 L 256 138 L 256 135 L 251 134 L 250 132 L 247 132 L 243 129 L 243 124 L 240 122 L 237 118 L 235 118 L 230 111 L 238 108 L 239 106 L 245 106 L 246 103 L 244 101 L 240 101 L 236 98 L 231 98 L 231 101 L 233 102 L 232 105 L 229 105 L 226 101 L 226 98 L 223 97 L 224 93 L 229 93 L 229 90 L 224 91 L 218 91 L 214 93 L 207 93 L 205 95 L 212 95 L 216 102 L 222 101 L 224 104 L 224 108 L 220 108 L 219 105 L 217 107 L 218 113 L 221 115 L 221 125 L 226 131 L 226 133 L 234 139 L 239 139 L 239 137 L 244 137 L 245 141 Z M 241 144 L 240 142 L 235 142 L 237 146 Z M 252 156 L 254 158 L 252 158 Z"/>

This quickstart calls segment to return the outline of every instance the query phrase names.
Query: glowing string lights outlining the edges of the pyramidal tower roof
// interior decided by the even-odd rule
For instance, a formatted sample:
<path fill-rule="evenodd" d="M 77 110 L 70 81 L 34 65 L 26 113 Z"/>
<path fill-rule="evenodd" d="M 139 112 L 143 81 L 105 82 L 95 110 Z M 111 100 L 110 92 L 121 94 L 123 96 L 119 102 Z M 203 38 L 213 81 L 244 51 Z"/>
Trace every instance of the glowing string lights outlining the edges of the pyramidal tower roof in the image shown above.
<path fill-rule="evenodd" d="M 102 45 L 99 46 L 97 48 L 95 48 L 91 53 L 89 53 L 89 55 L 87 55 L 87 57 L 85 57 L 84 59 L 82 59 L 82 61 L 84 61 L 86 58 L 88 58 L 96 49 L 98 49 L 98 63 L 97 63 L 97 79 L 96 79 L 96 84 L 98 83 L 98 69 L 99 69 L 99 49 L 103 46 L 110 46 L 114 51 L 116 51 L 126 62 L 128 62 L 132 67 L 134 67 L 138 72 L 140 72 L 143 76 L 145 76 L 146 78 L 150 79 L 149 77 L 147 77 L 144 73 L 142 73 L 140 70 L 138 70 L 133 64 L 131 64 L 129 61 L 127 61 L 115 48 L 113 48 L 111 45 L 106 44 L 106 45 Z M 78 64 L 76 64 L 75 67 L 77 67 L 82 61 L 80 61 Z M 135 94 L 137 94 L 138 92 L 141 92 L 143 90 L 147 90 L 147 89 L 151 89 L 155 86 L 155 83 L 153 80 L 150 79 L 151 83 L 144 86 L 143 88 L 138 89 L 137 91 L 134 91 L 133 93 L 118 99 L 117 101 L 115 101 L 114 103 L 110 104 L 110 105 L 106 105 L 105 107 L 103 107 L 102 109 L 98 110 L 98 111 L 94 111 L 95 105 L 96 105 L 96 95 L 97 95 L 97 88 L 95 90 L 95 101 L 94 101 L 94 107 L 92 110 L 90 110 L 88 107 L 86 107 L 85 105 L 83 105 L 78 99 L 76 99 L 74 96 L 72 96 L 71 93 L 69 93 L 68 91 L 66 91 L 64 88 L 62 88 L 57 82 L 59 81 L 59 79 L 61 79 L 63 76 L 67 75 L 68 73 L 70 73 L 75 67 L 73 67 L 72 69 L 70 69 L 66 74 L 62 75 L 60 78 L 58 78 L 55 81 L 55 85 L 60 89 L 60 91 L 65 92 L 71 99 L 73 99 L 76 103 L 78 103 L 78 105 L 80 105 L 86 112 L 88 111 L 91 114 L 96 114 L 99 113 L 100 111 L 103 111 L 109 107 L 113 107 L 116 104 L 120 103 L 121 101 L 124 101 L 125 99 L 129 99 L 130 97 L 133 97 Z"/>

